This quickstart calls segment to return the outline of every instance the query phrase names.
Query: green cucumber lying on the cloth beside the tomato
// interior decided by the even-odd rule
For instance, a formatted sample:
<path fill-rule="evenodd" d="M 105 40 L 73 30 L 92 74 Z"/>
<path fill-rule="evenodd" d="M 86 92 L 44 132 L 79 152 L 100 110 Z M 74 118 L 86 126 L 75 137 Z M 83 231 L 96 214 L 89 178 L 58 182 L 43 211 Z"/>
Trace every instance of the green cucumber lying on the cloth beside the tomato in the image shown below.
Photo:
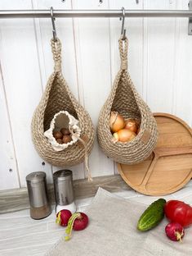
<path fill-rule="evenodd" d="M 149 231 L 154 226 L 157 226 L 163 220 L 165 203 L 165 199 L 158 199 L 151 203 L 141 215 L 137 223 L 137 229 L 139 231 Z"/>

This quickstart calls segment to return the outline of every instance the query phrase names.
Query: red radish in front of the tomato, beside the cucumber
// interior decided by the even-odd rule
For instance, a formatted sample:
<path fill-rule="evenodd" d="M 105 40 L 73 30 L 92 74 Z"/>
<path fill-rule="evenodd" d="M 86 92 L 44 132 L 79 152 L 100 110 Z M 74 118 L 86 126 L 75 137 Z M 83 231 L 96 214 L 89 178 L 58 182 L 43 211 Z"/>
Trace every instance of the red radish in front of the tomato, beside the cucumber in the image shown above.
<path fill-rule="evenodd" d="M 165 232 L 167 237 L 173 241 L 181 241 L 181 238 L 185 235 L 184 228 L 177 222 L 168 223 L 165 227 Z"/>

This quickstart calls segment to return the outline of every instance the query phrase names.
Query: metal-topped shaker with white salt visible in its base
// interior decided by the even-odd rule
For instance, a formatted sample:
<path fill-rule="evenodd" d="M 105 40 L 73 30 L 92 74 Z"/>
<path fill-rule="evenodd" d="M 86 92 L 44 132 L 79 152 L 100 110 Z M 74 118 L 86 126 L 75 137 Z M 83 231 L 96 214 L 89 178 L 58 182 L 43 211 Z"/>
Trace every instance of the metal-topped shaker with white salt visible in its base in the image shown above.
<path fill-rule="evenodd" d="M 56 213 L 61 209 L 76 211 L 74 203 L 73 173 L 70 170 L 60 170 L 53 174 L 54 191 L 56 198 Z"/>

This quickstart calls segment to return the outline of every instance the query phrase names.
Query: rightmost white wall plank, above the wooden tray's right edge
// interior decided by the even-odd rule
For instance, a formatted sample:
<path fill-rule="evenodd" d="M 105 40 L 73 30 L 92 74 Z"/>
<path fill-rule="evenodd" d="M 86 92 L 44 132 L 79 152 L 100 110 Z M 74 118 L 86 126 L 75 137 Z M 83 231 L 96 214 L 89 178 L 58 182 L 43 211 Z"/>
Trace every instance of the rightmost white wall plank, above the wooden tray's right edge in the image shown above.
<path fill-rule="evenodd" d="M 177 1 L 177 9 L 188 10 L 187 0 Z M 189 36 L 188 18 L 176 20 L 175 74 L 173 113 L 192 126 L 192 36 Z"/>

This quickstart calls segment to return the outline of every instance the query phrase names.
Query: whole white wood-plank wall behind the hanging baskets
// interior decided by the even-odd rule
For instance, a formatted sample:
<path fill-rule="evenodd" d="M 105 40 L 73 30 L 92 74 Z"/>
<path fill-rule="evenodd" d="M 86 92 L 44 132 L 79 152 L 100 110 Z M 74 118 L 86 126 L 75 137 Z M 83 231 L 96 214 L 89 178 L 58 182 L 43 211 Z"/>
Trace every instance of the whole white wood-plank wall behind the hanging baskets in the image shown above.
<path fill-rule="evenodd" d="M 188 0 L 17 0 L 0 1 L 0 9 L 178 9 Z M 129 71 L 136 89 L 153 112 L 169 112 L 192 125 L 192 36 L 188 18 L 127 18 Z M 63 73 L 70 89 L 87 109 L 96 126 L 118 71 L 118 19 L 56 19 L 62 48 Z M 51 19 L 0 21 L 0 190 L 25 186 L 32 171 L 52 171 L 43 166 L 33 148 L 30 123 L 47 79 L 51 75 Z M 114 162 L 95 140 L 89 158 L 92 176 L 116 172 Z M 84 178 L 83 163 L 70 167 L 74 179 Z"/>

